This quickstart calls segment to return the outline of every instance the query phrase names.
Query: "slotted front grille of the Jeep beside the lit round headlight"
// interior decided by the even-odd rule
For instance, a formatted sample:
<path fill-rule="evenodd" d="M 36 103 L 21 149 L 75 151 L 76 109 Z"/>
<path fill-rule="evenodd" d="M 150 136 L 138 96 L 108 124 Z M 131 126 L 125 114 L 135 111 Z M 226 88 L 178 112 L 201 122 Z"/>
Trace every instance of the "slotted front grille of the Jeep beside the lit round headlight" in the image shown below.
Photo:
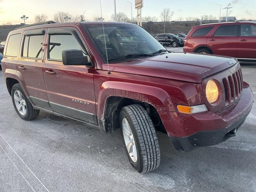
<path fill-rule="evenodd" d="M 241 68 L 227 78 L 222 79 L 225 91 L 226 105 L 235 102 L 241 95 L 243 89 L 243 77 Z"/>

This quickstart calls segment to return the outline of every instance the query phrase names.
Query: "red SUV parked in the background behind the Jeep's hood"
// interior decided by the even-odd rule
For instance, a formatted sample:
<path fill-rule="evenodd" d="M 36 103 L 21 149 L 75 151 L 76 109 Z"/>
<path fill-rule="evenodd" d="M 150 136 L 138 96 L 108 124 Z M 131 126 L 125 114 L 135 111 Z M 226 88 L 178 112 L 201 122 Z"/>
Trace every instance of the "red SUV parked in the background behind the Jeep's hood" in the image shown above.
<path fill-rule="evenodd" d="M 194 26 L 184 40 L 184 52 L 256 60 L 256 22 L 224 22 Z"/>

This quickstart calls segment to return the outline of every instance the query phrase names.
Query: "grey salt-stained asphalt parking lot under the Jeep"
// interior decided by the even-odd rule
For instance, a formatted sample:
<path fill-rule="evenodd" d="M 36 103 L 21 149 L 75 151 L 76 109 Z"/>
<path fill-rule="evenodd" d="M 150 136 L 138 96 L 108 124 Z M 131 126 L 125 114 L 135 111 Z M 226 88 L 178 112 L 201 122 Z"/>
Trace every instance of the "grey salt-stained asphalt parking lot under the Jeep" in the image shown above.
<path fill-rule="evenodd" d="M 182 48 L 168 48 L 182 51 Z M 242 66 L 256 96 L 256 64 Z M 216 146 L 176 152 L 158 133 L 160 167 L 135 172 L 120 130 L 103 134 L 40 112 L 18 117 L 0 71 L 0 192 L 256 192 L 256 104 L 237 136 Z"/>

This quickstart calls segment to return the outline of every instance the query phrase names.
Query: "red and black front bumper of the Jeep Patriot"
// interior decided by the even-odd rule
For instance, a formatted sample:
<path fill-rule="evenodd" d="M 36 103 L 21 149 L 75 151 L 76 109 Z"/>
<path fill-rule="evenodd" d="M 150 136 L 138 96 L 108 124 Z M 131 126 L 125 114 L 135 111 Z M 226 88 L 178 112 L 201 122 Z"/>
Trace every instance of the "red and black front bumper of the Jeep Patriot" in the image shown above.
<path fill-rule="evenodd" d="M 222 112 L 171 112 L 168 115 L 172 126 L 168 126 L 165 121 L 163 123 L 174 148 L 188 152 L 197 146 L 216 145 L 230 138 L 229 132 L 242 126 L 250 113 L 252 103 L 252 90 L 244 88 L 239 100 Z"/>

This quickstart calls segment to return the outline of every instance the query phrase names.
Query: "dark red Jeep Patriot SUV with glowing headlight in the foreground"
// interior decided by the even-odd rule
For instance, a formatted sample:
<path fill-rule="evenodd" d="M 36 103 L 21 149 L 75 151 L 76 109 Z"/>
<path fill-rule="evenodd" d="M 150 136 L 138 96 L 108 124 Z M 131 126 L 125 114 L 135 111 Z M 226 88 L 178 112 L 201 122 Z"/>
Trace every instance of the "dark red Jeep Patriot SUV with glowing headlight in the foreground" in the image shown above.
<path fill-rule="evenodd" d="M 121 128 L 138 172 L 160 164 L 156 130 L 178 151 L 218 144 L 243 124 L 253 95 L 230 57 L 168 52 L 135 24 L 34 24 L 9 33 L 2 69 L 24 120 L 40 110 Z"/>

